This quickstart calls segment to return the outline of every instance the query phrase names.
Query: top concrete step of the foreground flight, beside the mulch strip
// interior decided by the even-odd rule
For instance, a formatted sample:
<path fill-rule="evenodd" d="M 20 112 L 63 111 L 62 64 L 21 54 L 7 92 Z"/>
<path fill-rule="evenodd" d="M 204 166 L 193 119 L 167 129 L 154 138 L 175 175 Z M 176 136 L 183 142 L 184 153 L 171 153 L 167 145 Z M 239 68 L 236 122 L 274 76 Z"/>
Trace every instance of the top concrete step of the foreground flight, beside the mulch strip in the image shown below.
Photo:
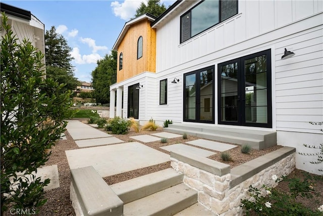
<path fill-rule="evenodd" d="M 182 182 L 183 174 L 176 172 L 172 168 L 168 168 L 125 182 L 110 185 L 110 187 L 126 204 L 173 187 Z"/>

